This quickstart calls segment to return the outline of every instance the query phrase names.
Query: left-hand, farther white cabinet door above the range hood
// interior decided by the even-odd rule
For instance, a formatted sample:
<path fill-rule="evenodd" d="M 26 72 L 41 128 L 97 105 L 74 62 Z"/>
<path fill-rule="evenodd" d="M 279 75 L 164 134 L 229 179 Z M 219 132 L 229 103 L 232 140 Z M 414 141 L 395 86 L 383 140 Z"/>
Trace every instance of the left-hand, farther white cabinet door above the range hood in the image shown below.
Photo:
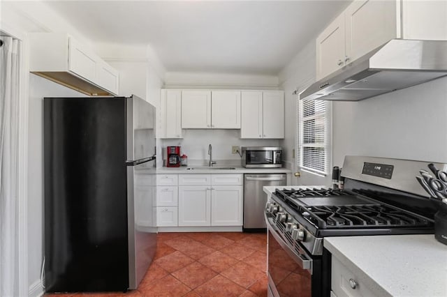
<path fill-rule="evenodd" d="M 344 66 L 344 14 L 316 38 L 316 80 Z"/>

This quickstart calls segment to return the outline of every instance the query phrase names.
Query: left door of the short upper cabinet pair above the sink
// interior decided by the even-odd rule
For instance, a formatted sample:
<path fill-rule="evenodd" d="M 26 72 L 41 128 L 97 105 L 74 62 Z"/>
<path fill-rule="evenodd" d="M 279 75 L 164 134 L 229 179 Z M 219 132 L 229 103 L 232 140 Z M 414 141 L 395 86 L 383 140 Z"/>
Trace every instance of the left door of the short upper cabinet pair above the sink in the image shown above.
<path fill-rule="evenodd" d="M 211 128 L 211 91 L 182 91 L 182 128 Z"/>

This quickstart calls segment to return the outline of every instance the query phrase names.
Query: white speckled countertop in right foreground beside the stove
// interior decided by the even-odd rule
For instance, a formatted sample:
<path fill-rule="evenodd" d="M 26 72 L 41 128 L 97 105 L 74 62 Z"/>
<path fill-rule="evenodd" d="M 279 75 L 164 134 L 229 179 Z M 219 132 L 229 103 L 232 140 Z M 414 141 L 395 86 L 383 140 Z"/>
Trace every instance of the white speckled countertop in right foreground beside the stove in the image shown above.
<path fill-rule="evenodd" d="M 447 245 L 433 234 L 324 238 L 377 296 L 447 296 Z"/>

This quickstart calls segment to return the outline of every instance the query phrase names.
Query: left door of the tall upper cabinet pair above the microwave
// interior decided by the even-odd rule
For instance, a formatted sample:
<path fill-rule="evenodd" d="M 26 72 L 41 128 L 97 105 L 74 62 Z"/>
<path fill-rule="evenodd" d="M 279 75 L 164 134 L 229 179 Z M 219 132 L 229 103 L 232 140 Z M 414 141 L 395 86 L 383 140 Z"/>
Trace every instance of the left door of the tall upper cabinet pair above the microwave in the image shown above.
<path fill-rule="evenodd" d="M 263 138 L 263 92 L 241 92 L 240 138 Z"/>

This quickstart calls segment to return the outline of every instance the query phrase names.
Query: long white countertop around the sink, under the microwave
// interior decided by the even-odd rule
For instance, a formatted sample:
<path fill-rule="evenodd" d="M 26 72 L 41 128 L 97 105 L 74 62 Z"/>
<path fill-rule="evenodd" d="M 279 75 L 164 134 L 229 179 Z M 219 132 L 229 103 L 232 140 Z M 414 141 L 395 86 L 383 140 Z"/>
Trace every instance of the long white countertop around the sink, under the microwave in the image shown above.
<path fill-rule="evenodd" d="M 194 166 L 190 166 L 194 167 Z M 219 167 L 219 166 L 216 166 Z M 193 169 L 188 170 L 188 167 L 159 167 L 156 169 L 157 174 L 264 174 L 264 173 L 291 173 L 287 168 L 244 168 L 241 166 L 231 166 L 235 169 Z"/>

